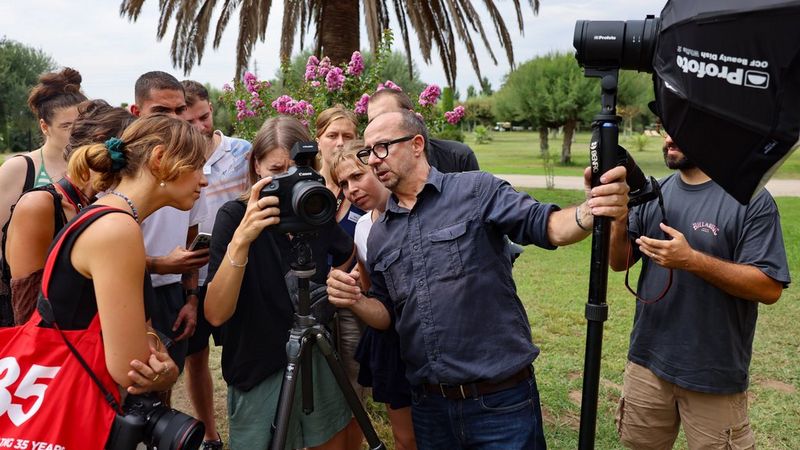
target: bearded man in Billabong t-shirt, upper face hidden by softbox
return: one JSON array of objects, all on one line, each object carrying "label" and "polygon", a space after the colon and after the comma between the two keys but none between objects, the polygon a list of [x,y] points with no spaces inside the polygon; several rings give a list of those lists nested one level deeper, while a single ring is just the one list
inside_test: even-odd
[{"label": "bearded man in Billabong t-shirt, upper face hidden by softbox", "polygon": [[617,412],[620,439],[672,448],[683,422],[689,448],[754,448],[747,386],[758,306],[778,301],[790,282],[778,209],[766,190],[737,202],[669,136],[663,151],[677,171],[660,182],[664,209],[640,205],[612,225],[610,265],[625,270],[642,259],[644,300]]}]

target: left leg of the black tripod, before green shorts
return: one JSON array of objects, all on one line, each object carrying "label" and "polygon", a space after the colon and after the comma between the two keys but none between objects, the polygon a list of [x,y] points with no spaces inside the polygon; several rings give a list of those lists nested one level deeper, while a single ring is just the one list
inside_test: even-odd
[{"label": "left leg of the black tripod, before green shorts", "polygon": [[281,383],[281,393],[278,397],[278,406],[275,411],[275,421],[272,423],[272,443],[270,448],[273,450],[283,450],[286,448],[286,436],[289,432],[289,419],[292,416],[292,403],[294,393],[297,388],[297,377],[300,375],[300,358],[303,347],[308,344],[308,339],[304,334],[292,330],[289,341],[286,343],[286,370],[283,372],[283,382]]}]

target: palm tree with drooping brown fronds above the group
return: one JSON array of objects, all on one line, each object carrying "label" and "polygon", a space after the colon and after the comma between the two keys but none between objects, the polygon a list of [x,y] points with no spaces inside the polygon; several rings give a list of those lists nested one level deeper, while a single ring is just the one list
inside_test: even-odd
[{"label": "palm tree with drooping brown fronds above the group", "polygon": [[[120,15],[136,21],[145,0],[122,0]],[[522,0],[512,0],[517,24],[522,33]],[[164,37],[170,21],[175,19],[175,32],[170,50],[172,63],[188,73],[195,64],[200,64],[206,40],[211,31],[211,17],[218,0],[159,0],[161,15],[158,20],[157,38]],[[240,78],[250,61],[250,54],[256,42],[266,37],[267,19],[272,8],[272,0],[224,0],[217,18],[214,32],[214,48],[219,47],[222,32],[231,17],[239,8],[239,37],[236,43],[236,78]],[[483,41],[492,62],[497,58],[489,45],[477,10],[472,0],[361,0],[366,16],[367,34],[372,51],[380,43],[382,31],[389,28],[389,9],[393,6],[399,23],[409,67],[411,66],[411,47],[409,44],[409,24],[419,39],[420,50],[425,63],[431,63],[431,50],[436,47],[450,86],[456,79],[456,37],[464,43],[472,67],[482,79],[478,58],[475,55],[476,33]],[[505,49],[511,67],[514,67],[514,51],[511,37],[500,10],[492,0],[483,0],[494,25],[500,46]],[[539,11],[539,0],[528,0],[534,14]],[[283,25],[281,32],[281,60],[288,60],[294,45],[294,36],[300,27],[300,46],[303,47],[305,34],[312,25],[316,26],[314,53],[324,54],[334,64],[347,61],[353,51],[359,48],[359,0],[284,0]]]}]

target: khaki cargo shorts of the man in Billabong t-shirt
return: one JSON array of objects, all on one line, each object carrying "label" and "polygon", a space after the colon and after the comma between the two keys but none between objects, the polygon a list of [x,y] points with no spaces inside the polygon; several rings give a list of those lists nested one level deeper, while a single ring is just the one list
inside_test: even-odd
[{"label": "khaki cargo shorts of the man in Billabong t-shirt", "polygon": [[689,391],[628,362],[616,415],[622,443],[635,449],[671,449],[683,423],[690,449],[753,449],[747,393]]}]

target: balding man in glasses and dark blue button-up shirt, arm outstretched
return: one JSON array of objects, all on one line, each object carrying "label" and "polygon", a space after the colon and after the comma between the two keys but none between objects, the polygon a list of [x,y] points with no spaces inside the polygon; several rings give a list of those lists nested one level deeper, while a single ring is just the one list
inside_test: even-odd
[{"label": "balding man in glasses and dark blue button-up shirt, arm outstretched", "polygon": [[428,165],[426,139],[410,111],[367,126],[359,158],[392,195],[367,241],[368,295],[357,272],[333,271],[329,298],[375,328],[394,322],[419,448],[545,448],[531,368],[539,350],[503,235],[554,249],[588,236],[593,214],[624,217],[625,169],[562,210],[485,172],[442,174]]}]

